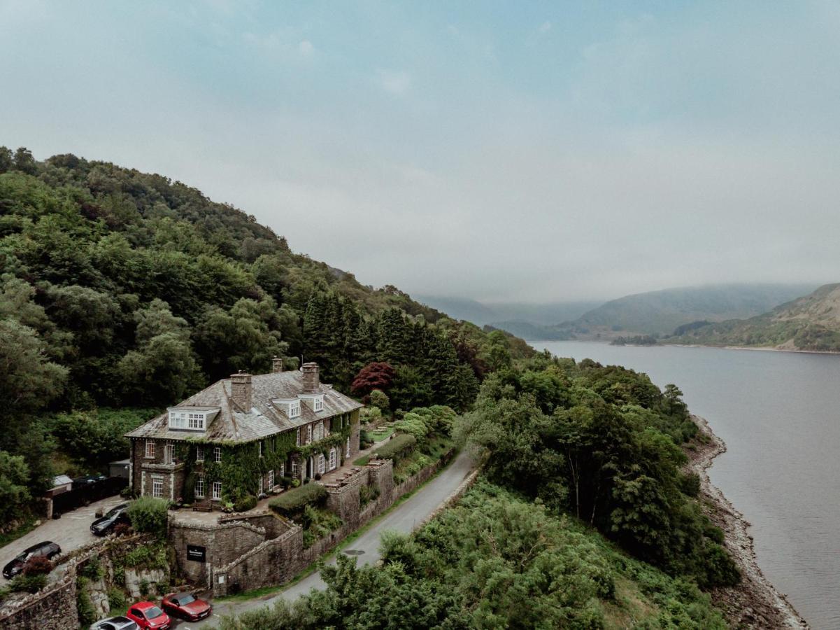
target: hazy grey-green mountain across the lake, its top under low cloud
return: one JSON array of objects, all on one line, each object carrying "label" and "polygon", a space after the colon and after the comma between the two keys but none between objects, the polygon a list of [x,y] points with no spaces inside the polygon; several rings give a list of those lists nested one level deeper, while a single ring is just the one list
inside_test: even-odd
[{"label": "hazy grey-green mountain across the lake, its top under low cloud", "polygon": [[651,291],[613,299],[552,330],[573,338],[608,339],[627,333],[664,336],[698,320],[760,315],[814,288],[813,284],[726,284]]}]

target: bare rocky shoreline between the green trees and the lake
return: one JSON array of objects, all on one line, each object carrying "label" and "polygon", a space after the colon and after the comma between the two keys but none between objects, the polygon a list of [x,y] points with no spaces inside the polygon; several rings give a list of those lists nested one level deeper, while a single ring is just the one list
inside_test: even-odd
[{"label": "bare rocky shoreline between the green trees and the lake", "polygon": [[701,480],[701,500],[711,521],[726,534],[726,547],[741,569],[742,580],[731,588],[711,591],[711,598],[727,617],[732,627],[745,628],[808,628],[808,624],[787,598],[764,576],[755,558],[753,537],[743,514],[732,506],[717,486],[711,484],[708,469],[727,445],[711,431],[709,423],[692,416],[708,440],[696,442],[696,450],[687,452],[688,468]]}]

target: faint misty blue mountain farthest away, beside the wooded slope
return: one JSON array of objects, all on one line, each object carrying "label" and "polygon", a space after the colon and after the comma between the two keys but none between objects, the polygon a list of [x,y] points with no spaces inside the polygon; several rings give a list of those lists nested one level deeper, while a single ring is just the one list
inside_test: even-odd
[{"label": "faint misty blue mountain farthest away, beside the wooded slope", "polygon": [[[482,304],[475,299],[447,298],[436,295],[421,295],[417,299],[433,309],[440,310],[457,320],[467,320],[479,326],[491,325],[503,331],[518,333],[513,329],[542,331],[543,326],[550,326],[559,321],[574,320],[586,311],[603,304],[601,300],[583,302],[552,302],[529,304],[527,302],[496,302]],[[546,339],[544,332],[535,332],[539,336],[531,339]]]}]

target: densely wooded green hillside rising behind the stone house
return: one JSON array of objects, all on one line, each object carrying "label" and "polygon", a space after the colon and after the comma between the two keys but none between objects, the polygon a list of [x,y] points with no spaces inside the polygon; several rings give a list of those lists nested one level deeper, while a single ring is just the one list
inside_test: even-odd
[{"label": "densely wooded green hillside rising behind the stone house", "polygon": [[123,431],[274,355],[317,361],[344,391],[388,362],[394,410],[464,410],[486,373],[530,352],[296,254],[183,183],[0,147],[0,516],[55,465],[124,456]]}]

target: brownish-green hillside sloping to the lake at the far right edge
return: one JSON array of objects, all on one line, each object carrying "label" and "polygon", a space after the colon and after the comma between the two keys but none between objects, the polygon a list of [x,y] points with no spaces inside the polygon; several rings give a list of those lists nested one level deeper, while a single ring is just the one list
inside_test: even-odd
[{"label": "brownish-green hillside sloping to the lake at the far right edge", "polygon": [[747,320],[697,322],[684,326],[672,343],[776,347],[781,350],[840,351],[840,283]]}]

